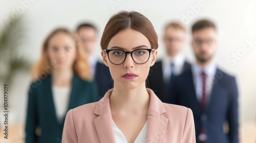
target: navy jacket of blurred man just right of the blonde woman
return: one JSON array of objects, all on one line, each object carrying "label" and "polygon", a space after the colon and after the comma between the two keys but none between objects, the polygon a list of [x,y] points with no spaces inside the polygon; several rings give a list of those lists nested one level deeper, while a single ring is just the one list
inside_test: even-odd
[{"label": "navy jacket of blurred man just right of the blonde woman", "polygon": [[94,78],[98,86],[99,98],[101,99],[106,91],[113,88],[113,80],[109,67],[103,63],[97,62]]}]

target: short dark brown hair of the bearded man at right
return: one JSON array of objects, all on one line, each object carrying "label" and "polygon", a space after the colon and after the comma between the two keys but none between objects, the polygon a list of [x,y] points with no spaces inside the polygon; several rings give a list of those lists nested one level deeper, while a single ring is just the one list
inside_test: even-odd
[{"label": "short dark brown hair of the bearded man at right", "polygon": [[201,30],[205,28],[214,28],[216,30],[216,26],[214,22],[207,19],[202,19],[194,23],[194,25],[192,26],[192,33],[194,33],[197,30]]}]

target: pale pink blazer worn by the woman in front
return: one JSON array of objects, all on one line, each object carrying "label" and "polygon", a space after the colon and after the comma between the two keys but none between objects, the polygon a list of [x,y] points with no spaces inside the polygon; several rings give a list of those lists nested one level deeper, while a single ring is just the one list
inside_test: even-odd
[{"label": "pale pink blazer worn by the woman in front", "polygon": [[[113,89],[98,102],[68,111],[62,134],[62,143],[115,142],[109,97]],[[150,105],[147,113],[146,142],[196,142],[194,118],[191,109],[162,103],[149,88]]]}]

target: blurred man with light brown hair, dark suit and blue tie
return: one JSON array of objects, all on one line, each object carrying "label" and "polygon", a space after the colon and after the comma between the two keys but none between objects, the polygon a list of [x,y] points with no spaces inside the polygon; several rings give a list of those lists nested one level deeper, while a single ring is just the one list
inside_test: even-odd
[{"label": "blurred man with light brown hair, dark suit and blue tie", "polygon": [[186,42],[186,28],[180,22],[170,22],[166,25],[163,42],[166,57],[151,67],[148,75],[149,87],[157,94],[162,102],[167,102],[170,96],[169,88],[176,76],[190,67],[185,56],[181,53]]}]

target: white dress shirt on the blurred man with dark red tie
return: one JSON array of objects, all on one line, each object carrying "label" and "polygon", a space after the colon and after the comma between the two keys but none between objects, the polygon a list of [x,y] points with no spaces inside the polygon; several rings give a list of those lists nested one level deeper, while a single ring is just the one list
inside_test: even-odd
[{"label": "white dress shirt on the blurred man with dark red tie", "polygon": [[193,80],[195,85],[195,91],[197,94],[198,101],[201,101],[202,91],[203,91],[203,79],[202,79],[202,71],[207,75],[206,78],[206,99],[209,99],[212,85],[214,84],[215,73],[217,70],[217,65],[215,63],[211,63],[202,69],[199,65],[193,64],[192,67]]}]

